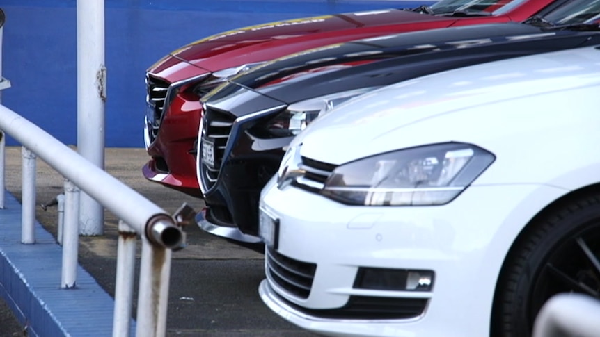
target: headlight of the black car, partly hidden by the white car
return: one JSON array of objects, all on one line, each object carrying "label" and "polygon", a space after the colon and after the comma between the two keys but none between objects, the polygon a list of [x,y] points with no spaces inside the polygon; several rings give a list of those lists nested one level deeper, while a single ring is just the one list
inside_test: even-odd
[{"label": "headlight of the black car, partly hidden by the white car", "polygon": [[267,123],[269,133],[277,138],[297,135],[306,126],[329,110],[343,102],[357,97],[379,87],[361,88],[345,92],[336,92],[322,97],[299,101],[287,106],[283,113],[279,113]]}]

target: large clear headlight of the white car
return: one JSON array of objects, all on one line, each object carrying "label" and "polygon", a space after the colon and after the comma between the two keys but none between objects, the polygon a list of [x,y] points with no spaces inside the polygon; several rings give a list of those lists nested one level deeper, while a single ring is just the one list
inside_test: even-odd
[{"label": "large clear headlight of the white car", "polygon": [[321,193],[350,205],[447,204],[495,158],[480,147],[456,142],[402,149],[336,167]]}]

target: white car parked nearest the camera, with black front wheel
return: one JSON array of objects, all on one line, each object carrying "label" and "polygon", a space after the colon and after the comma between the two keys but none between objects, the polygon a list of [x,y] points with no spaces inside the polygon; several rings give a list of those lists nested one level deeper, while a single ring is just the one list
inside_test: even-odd
[{"label": "white car parked nearest the camera, with black front wheel", "polygon": [[530,336],[600,293],[600,50],[391,85],[319,117],[262,190],[263,302],[332,336]]}]

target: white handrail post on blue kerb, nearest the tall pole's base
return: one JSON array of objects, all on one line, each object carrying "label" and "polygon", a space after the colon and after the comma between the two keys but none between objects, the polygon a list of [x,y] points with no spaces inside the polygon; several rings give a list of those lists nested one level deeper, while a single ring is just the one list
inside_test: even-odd
[{"label": "white handrail post on blue kerb, nearest the tall pole's base", "polygon": [[79,188],[65,179],[65,225],[61,288],[75,288],[79,254]]}]

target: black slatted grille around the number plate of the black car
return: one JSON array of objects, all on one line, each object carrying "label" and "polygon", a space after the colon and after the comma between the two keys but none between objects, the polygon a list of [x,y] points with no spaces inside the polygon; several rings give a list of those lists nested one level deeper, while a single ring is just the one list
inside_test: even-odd
[{"label": "black slatted grille around the number plate of the black car", "polygon": [[205,107],[202,137],[207,138],[214,144],[214,167],[205,165],[200,166],[200,171],[203,174],[205,188],[210,189],[214,186],[217,177],[219,176],[219,167],[225,156],[225,148],[231,133],[231,128],[235,122],[235,117],[224,111],[215,110],[208,106]]}]

